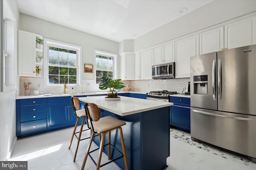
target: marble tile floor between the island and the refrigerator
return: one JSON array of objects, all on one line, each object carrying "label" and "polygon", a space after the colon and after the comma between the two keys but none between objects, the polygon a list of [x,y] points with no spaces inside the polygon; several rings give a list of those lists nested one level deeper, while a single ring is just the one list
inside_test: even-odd
[{"label": "marble tile floor between the island and the refrigerator", "polygon": [[256,163],[191,140],[190,133],[170,131],[170,156],[167,170],[256,170]]}]

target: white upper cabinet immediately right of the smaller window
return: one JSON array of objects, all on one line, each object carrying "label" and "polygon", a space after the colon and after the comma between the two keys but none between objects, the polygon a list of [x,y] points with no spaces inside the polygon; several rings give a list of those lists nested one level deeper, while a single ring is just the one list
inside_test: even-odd
[{"label": "white upper cabinet immediately right of the smaller window", "polygon": [[135,72],[135,55],[125,54],[121,56],[121,79],[122,80],[134,80]]}]

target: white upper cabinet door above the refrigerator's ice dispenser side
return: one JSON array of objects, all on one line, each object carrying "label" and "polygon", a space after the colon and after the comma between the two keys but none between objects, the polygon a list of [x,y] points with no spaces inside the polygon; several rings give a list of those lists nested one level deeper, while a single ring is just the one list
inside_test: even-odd
[{"label": "white upper cabinet door above the refrigerator's ice dispenser side", "polygon": [[224,50],[224,26],[199,34],[199,54]]}]

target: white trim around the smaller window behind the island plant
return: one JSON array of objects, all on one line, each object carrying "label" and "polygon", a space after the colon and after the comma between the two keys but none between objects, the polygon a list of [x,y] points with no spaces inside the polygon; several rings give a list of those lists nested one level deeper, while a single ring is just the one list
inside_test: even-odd
[{"label": "white trim around the smaller window behind the island plant", "polygon": [[99,84],[96,84],[96,55],[97,54],[102,54],[106,57],[113,57],[114,58],[114,66],[113,66],[113,79],[117,78],[117,59],[118,59],[118,55],[115,53],[110,53],[110,52],[106,52],[106,51],[101,51],[98,49],[94,49],[94,85],[95,87],[99,87]]}]

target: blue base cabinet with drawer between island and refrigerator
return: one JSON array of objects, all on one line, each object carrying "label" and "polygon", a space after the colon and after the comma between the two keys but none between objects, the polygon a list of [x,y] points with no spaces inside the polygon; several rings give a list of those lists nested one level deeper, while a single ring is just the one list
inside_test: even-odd
[{"label": "blue base cabinet with drawer between island and refrigerator", "polygon": [[170,109],[170,125],[190,132],[190,98],[170,96],[169,101],[174,103]]}]

